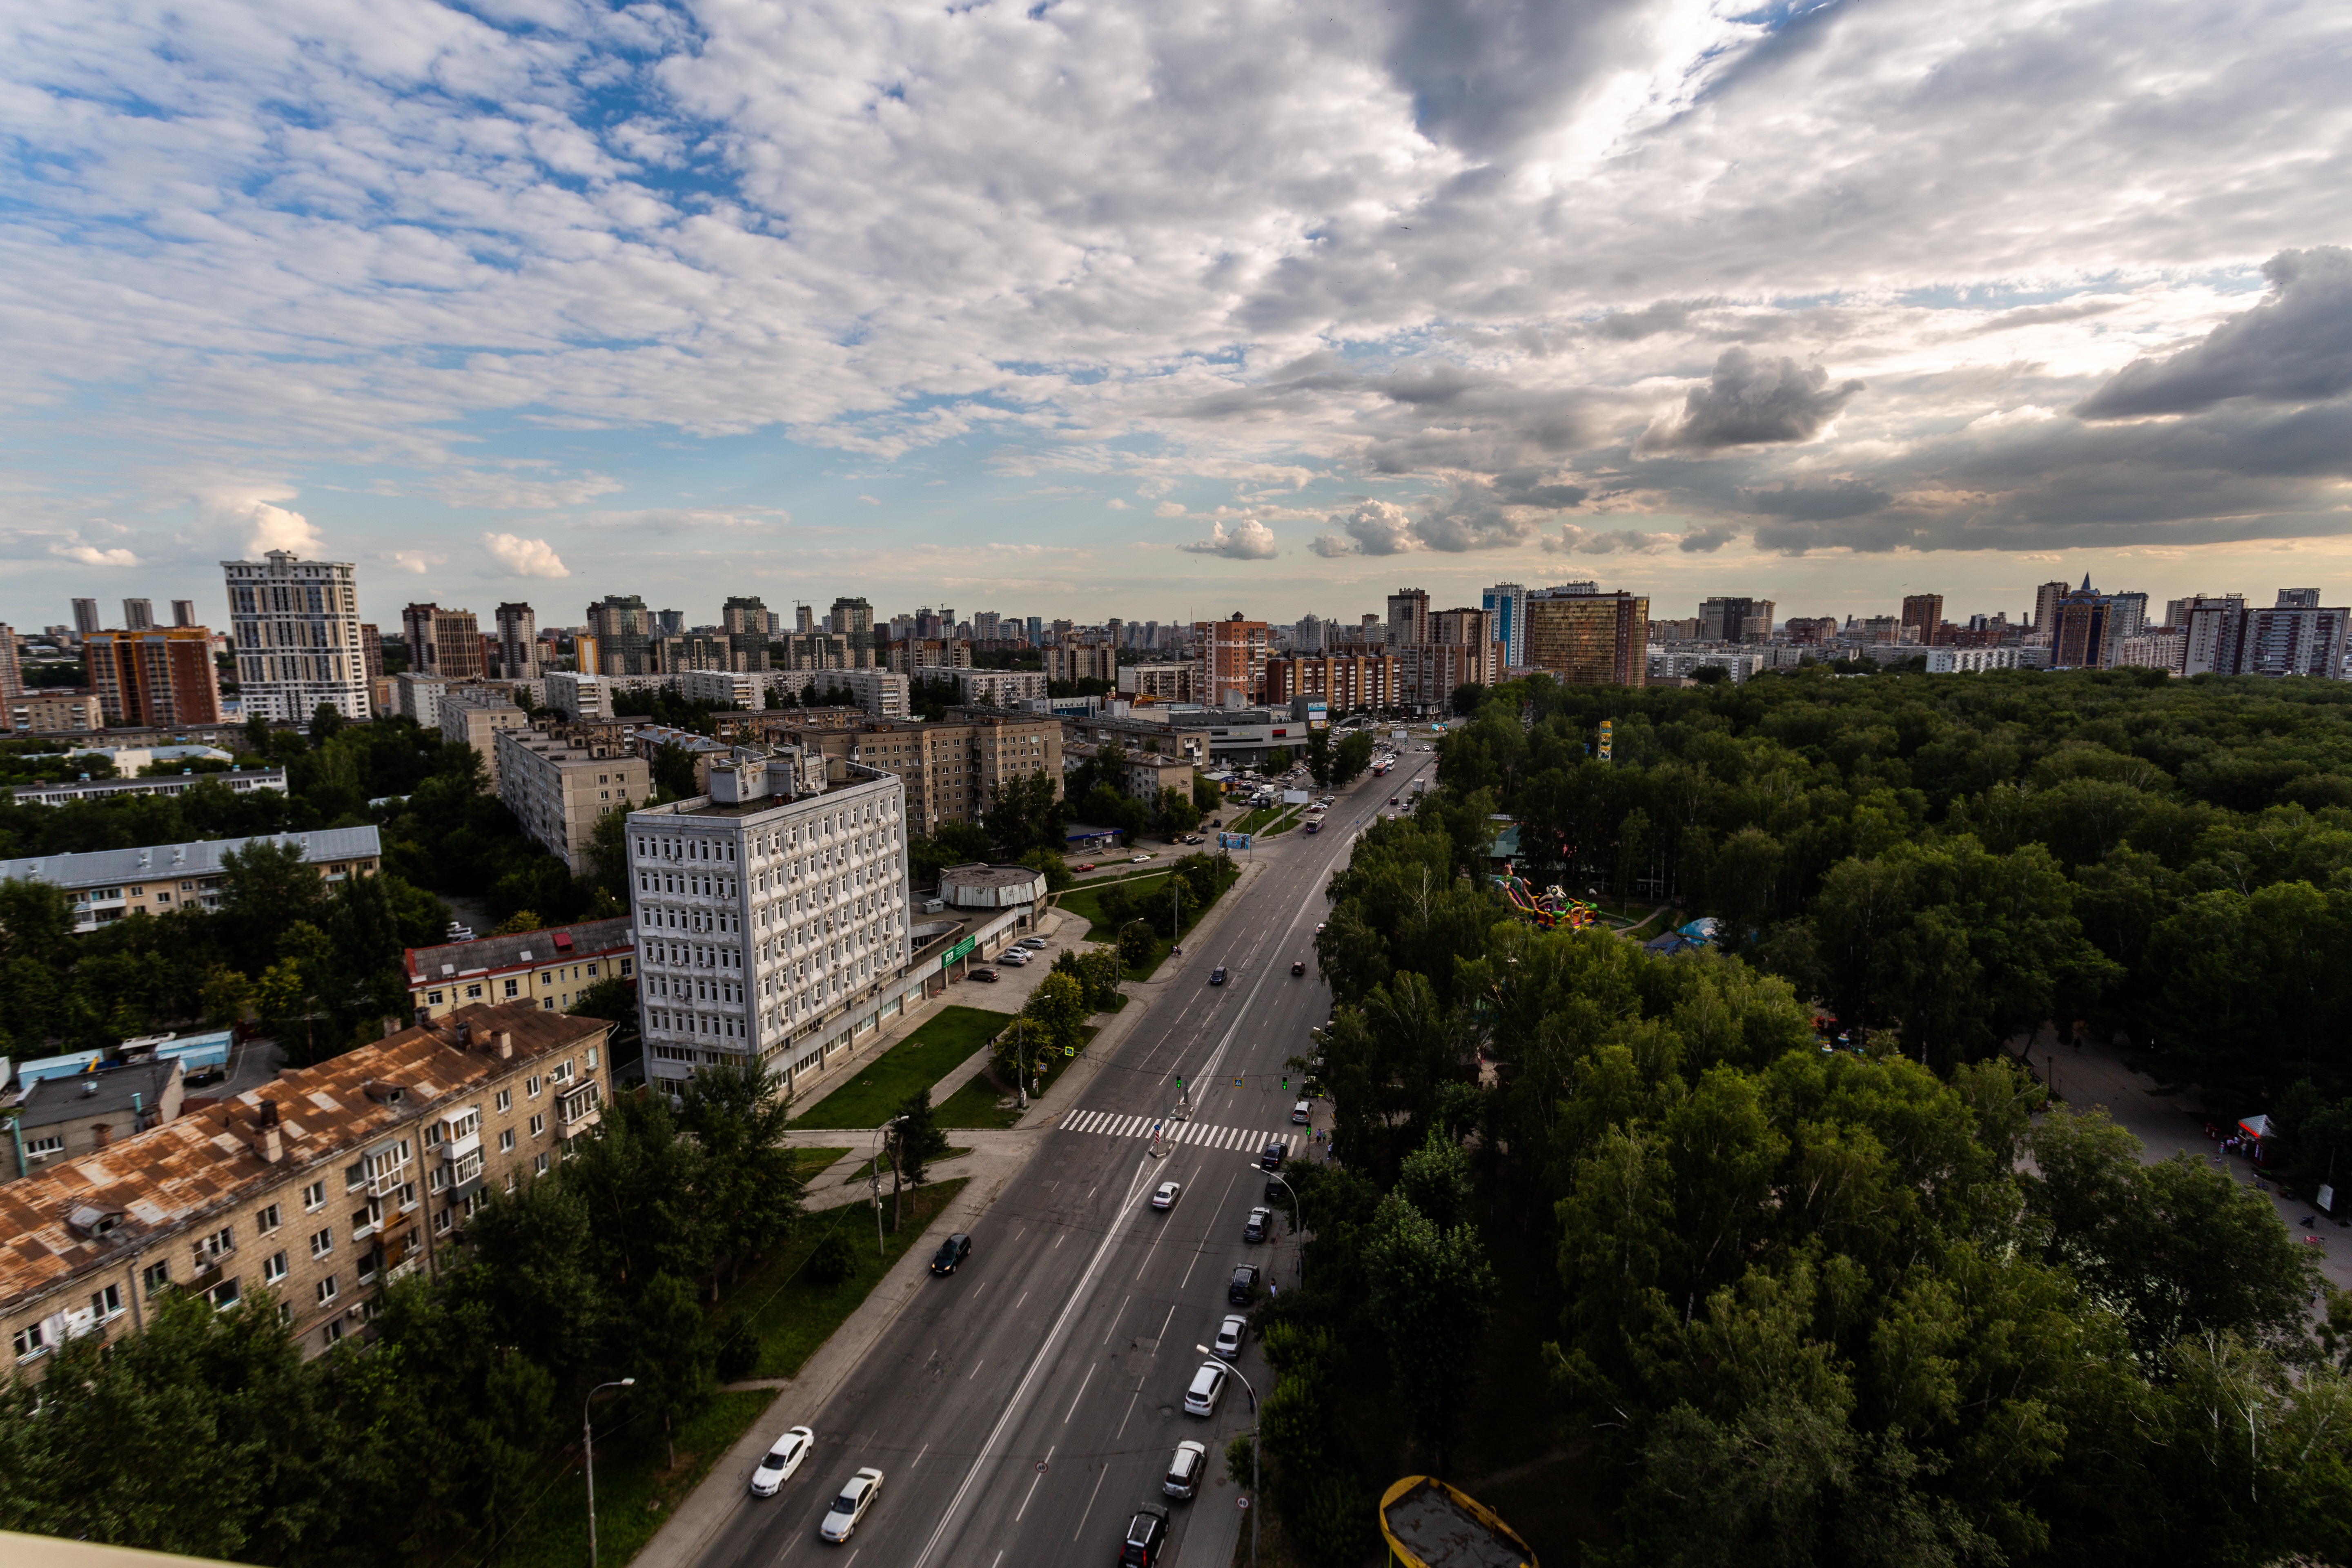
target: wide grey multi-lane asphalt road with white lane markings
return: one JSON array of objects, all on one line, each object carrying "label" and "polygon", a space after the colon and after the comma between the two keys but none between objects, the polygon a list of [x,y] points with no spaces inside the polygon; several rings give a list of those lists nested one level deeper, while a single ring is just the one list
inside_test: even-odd
[{"label": "wide grey multi-lane asphalt road with white lane markings", "polygon": [[[776,1497],[734,1512],[701,1568],[1112,1563],[1138,1507],[1169,1514],[1157,1561],[1232,1559],[1247,1476],[1225,1479],[1223,1446],[1249,1429],[1249,1396],[1232,1380],[1214,1418],[1185,1415],[1207,1359],[1195,1345],[1225,1316],[1235,1265],[1298,1279],[1287,1225],[1270,1244],[1247,1244],[1242,1225],[1263,1201],[1263,1143],[1305,1131],[1291,1126],[1298,1081],[1284,1060],[1305,1053],[1331,1006],[1315,973],[1324,884],[1355,830],[1432,764],[1406,750],[1385,778],[1341,795],[1319,835],[1261,842],[1261,867],[1214,936],[1162,969],[1150,1011],[1073,1103],[1049,1107],[1056,1131],[971,1225],[962,1272],[924,1281],[823,1408],[776,1410],[779,1432],[811,1425],[816,1448]],[[1294,959],[1308,961],[1303,978]],[[1221,987],[1209,985],[1216,964],[1230,971]],[[1190,1119],[1171,1124],[1183,1131],[1155,1159],[1150,1121],[1174,1107],[1178,1077],[1192,1086]],[[1183,1197],[1155,1213],[1164,1180]],[[1240,1373],[1268,1387],[1256,1342]],[[1160,1479],[1188,1436],[1209,1443],[1211,1479],[1176,1502]],[[880,1500],[847,1544],[821,1542],[826,1505],[863,1465],[887,1476]]]}]

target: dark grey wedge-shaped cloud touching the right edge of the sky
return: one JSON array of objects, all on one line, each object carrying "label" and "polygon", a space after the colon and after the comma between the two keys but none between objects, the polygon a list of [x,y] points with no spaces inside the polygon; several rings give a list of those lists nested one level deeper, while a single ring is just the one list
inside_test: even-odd
[{"label": "dark grey wedge-shaped cloud touching the right edge of the sky", "polygon": [[2352,252],[2319,244],[2263,266],[2270,299],[2161,360],[2133,360],[2074,411],[2194,414],[2227,397],[2321,402],[2352,390]]}]

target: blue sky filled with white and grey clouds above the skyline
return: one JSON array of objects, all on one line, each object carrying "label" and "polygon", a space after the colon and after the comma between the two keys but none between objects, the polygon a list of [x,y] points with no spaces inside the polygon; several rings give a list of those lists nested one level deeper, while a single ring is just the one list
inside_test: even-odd
[{"label": "blue sky filled with white and grey clouds above the skyline", "polygon": [[0,0],[0,616],[219,618],[263,548],[543,625],[2345,602],[2347,45],[2293,0]]}]

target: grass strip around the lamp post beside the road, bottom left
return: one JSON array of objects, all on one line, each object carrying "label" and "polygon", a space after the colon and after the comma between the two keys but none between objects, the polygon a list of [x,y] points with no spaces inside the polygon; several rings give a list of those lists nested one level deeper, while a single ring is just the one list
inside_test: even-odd
[{"label": "grass strip around the lamp post beside the road, bottom left", "polygon": [[[677,1469],[661,1439],[661,1418],[626,1415],[597,1401],[595,1432],[595,1547],[597,1559],[626,1563],[684,1502],[710,1467],[760,1420],[769,1389],[715,1394],[677,1429]],[[607,1425],[609,1422],[609,1425]],[[499,1568],[576,1568],[588,1561],[588,1479],[579,1458],[529,1507],[506,1521]]]}]

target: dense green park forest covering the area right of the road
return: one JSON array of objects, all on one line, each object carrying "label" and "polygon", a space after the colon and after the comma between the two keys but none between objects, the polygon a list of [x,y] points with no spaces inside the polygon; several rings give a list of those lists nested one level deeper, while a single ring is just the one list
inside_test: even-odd
[{"label": "dense green park forest covering the area right of the road", "polygon": [[[1369,1500],[1437,1469],[1592,1563],[2345,1561],[2317,1248],[2206,1159],[2037,1117],[2002,1046],[2122,1032],[2324,1164],[2347,715],[2124,672],[1486,693],[1317,940],[1341,1164],[1265,1312],[1294,1547],[1369,1561]],[[1538,886],[1679,898],[1724,950],[1515,919],[1498,813]]]}]

